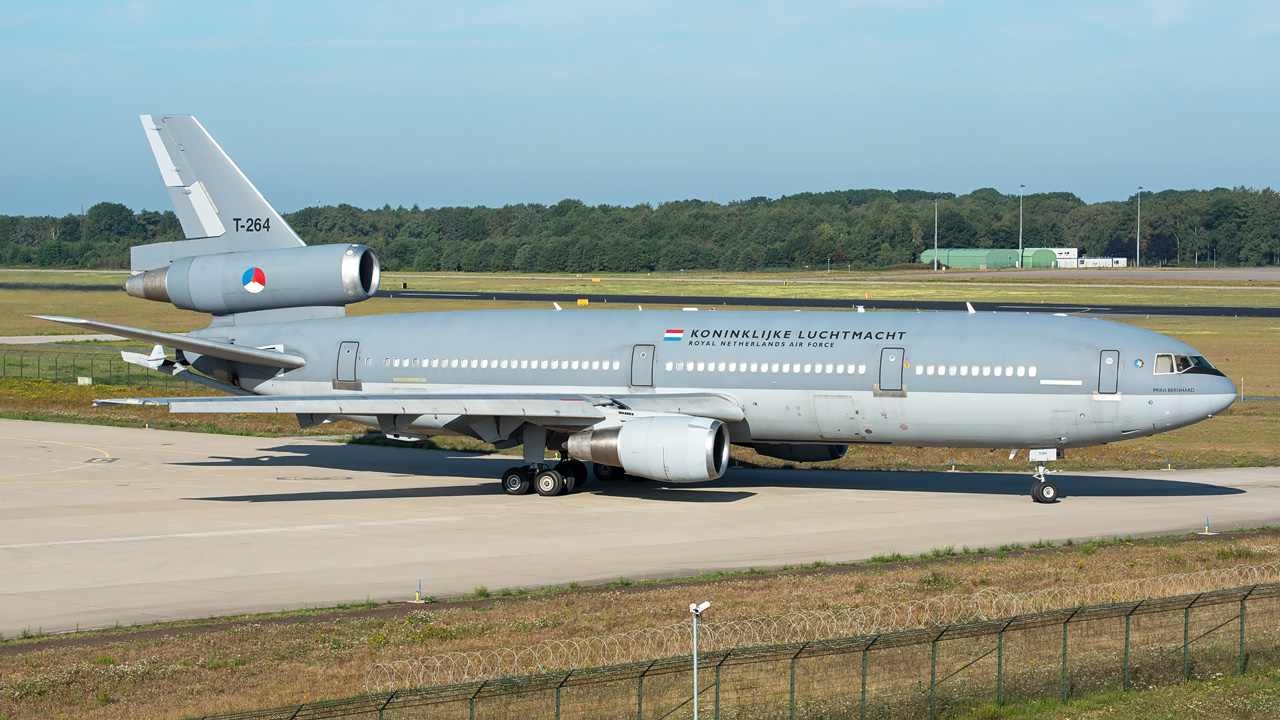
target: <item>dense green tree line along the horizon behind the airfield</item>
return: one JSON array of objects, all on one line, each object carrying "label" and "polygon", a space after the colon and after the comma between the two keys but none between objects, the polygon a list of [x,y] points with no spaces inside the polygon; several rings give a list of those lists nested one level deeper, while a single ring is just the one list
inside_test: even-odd
[{"label": "dense green tree line along the horizon behind the airfield", "polygon": [[[1025,247],[1078,247],[1133,258],[1138,196],[1085,204],[1070,192],[1027,195]],[[308,245],[371,246],[387,270],[676,272],[869,269],[916,263],[933,247],[1018,247],[1016,195],[901,190],[804,192],[719,204],[628,208],[303,208],[285,219]],[[1280,196],[1270,188],[1166,190],[1142,196],[1143,265],[1275,265]],[[0,264],[128,268],[133,245],[182,240],[172,211],[100,202],[82,214],[0,215]]]}]

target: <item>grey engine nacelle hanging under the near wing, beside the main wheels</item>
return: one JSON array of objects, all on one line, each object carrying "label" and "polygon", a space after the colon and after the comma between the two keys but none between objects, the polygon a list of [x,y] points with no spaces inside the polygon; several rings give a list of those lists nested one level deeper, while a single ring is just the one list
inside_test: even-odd
[{"label": "grey engine nacelle hanging under the near wing, beside the main wheels", "polygon": [[700,483],[728,469],[728,427],[689,415],[632,418],[617,428],[572,434],[567,450],[641,478]]}]

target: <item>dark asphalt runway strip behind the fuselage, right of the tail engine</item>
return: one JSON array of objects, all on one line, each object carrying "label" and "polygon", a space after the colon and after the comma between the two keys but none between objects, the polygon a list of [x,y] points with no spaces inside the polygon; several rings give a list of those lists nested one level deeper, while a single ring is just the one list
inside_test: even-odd
[{"label": "dark asphalt runway strip behind the fuselage, right of the tail engine", "polygon": [[[823,307],[829,310],[928,310],[965,313],[965,302],[943,300],[858,300],[829,297],[722,297],[689,295],[594,295],[571,292],[435,292],[422,290],[393,290],[384,297],[404,300],[502,300],[507,302],[590,302],[625,305],[684,305],[703,307]],[[1280,318],[1280,307],[1236,305],[1065,305],[1055,302],[973,302],[978,313],[1065,313],[1069,315],[1098,316],[1188,316],[1188,318]]]}]

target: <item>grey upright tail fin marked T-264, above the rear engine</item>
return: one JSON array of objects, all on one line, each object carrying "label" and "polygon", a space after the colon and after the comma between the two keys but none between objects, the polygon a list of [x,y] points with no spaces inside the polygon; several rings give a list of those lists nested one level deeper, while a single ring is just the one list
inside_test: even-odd
[{"label": "grey upright tail fin marked T-264, above the rear engine", "polygon": [[133,272],[179,258],[305,245],[192,115],[141,115],[186,241],[140,245]]}]

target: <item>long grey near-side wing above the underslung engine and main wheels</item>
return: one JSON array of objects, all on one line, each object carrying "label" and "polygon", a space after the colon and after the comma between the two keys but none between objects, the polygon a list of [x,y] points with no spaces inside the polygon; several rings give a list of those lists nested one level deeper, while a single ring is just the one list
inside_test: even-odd
[{"label": "long grey near-side wing above the underslung engine and main wheels", "polygon": [[443,393],[335,393],[234,397],[138,397],[97,400],[95,406],[168,405],[170,413],[292,413],[297,415],[466,415],[603,420],[602,406],[649,413],[678,413],[723,421],[744,418],[728,397],[691,395],[443,395]]}]

